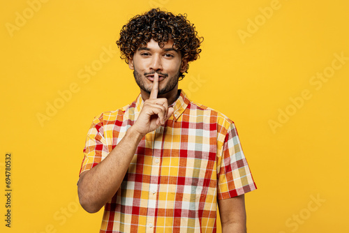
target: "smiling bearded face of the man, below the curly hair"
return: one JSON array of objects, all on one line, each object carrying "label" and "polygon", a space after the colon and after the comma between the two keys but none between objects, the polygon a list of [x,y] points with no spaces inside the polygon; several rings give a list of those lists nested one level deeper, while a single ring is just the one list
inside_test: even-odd
[{"label": "smiling bearded face of the man, below the curly hair", "polygon": [[174,50],[173,40],[159,47],[151,39],[147,47],[139,47],[130,59],[128,66],[133,71],[141,92],[149,94],[153,87],[154,73],[158,73],[158,95],[177,94],[179,73],[186,70],[186,61],[181,60],[179,51]]}]

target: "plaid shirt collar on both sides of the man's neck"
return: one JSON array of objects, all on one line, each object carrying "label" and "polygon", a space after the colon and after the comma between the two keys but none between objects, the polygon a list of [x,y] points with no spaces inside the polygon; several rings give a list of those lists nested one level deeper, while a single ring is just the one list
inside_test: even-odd
[{"label": "plaid shirt collar on both sides of the man's neck", "polygon": [[[188,99],[188,96],[186,96],[186,93],[184,93],[183,90],[179,89],[179,91],[181,91],[179,97],[171,105],[174,108],[174,112],[171,116],[174,118],[174,121],[177,121],[179,117],[181,117],[181,114],[183,114],[184,110],[186,110],[186,107],[188,107],[188,104],[191,102],[191,100]],[[144,101],[142,99],[142,95],[139,94],[137,99],[135,100],[136,117],[138,117],[138,114],[140,113],[140,110],[142,110],[143,105]]]}]

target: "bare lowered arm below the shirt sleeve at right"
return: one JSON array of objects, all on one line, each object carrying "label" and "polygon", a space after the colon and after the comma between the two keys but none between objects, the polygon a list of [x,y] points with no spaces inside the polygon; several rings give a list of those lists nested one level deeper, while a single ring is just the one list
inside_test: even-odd
[{"label": "bare lowered arm below the shirt sleeve at right", "polygon": [[245,197],[218,200],[219,214],[221,216],[223,233],[246,233]]}]

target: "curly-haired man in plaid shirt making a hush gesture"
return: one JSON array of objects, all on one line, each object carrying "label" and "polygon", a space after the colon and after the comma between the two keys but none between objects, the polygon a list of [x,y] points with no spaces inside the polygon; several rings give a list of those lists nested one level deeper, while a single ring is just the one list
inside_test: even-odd
[{"label": "curly-haired man in plaid shirt making a hush gesture", "polygon": [[202,38],[185,15],[137,15],[117,45],[140,87],[135,102],[94,119],[78,193],[101,232],[246,232],[255,183],[235,125],[178,89]]}]

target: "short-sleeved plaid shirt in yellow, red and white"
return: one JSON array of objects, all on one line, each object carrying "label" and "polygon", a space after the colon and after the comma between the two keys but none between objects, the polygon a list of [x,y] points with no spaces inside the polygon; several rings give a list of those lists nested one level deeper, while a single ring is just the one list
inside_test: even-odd
[{"label": "short-sleeved plaid shirt in yellow, red and white", "polygon": [[[81,172],[98,165],[124,137],[143,100],[94,119]],[[101,232],[216,232],[217,200],[254,190],[230,119],[181,91],[174,113],[143,137],[128,172],[105,204]]]}]

